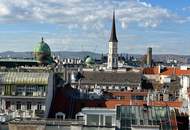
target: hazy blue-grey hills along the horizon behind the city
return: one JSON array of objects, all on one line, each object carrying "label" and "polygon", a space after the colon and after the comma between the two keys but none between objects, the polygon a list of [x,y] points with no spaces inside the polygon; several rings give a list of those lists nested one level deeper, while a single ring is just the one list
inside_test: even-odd
[{"label": "hazy blue-grey hills along the horizon behind the city", "polygon": [[[53,55],[59,56],[60,58],[81,58],[83,59],[85,56],[91,56],[96,59],[100,59],[100,53],[94,53],[89,51],[56,51],[52,52]],[[125,55],[125,54],[124,54]],[[133,56],[135,58],[141,59],[143,55],[140,54],[128,54],[128,56]],[[13,52],[13,51],[6,51],[0,53],[1,58],[32,58],[32,52]],[[153,59],[155,61],[167,61],[167,60],[177,60],[180,63],[190,63],[190,55],[175,55],[175,54],[160,54],[160,55],[153,55]]]}]

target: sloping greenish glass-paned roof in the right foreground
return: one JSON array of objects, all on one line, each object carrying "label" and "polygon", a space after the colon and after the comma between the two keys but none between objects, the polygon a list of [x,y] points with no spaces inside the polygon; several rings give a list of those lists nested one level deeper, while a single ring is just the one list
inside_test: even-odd
[{"label": "sloping greenish glass-paned roof in the right foreground", "polygon": [[118,106],[117,117],[121,130],[133,130],[133,126],[160,127],[160,130],[172,130],[169,107],[161,106]]}]

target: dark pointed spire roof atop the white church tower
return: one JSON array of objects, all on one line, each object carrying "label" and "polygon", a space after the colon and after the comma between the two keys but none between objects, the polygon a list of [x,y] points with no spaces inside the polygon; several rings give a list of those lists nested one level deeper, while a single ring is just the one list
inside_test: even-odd
[{"label": "dark pointed spire roof atop the white church tower", "polygon": [[115,11],[113,11],[113,22],[112,22],[112,30],[109,42],[118,42],[116,36],[116,27],[115,27]]}]

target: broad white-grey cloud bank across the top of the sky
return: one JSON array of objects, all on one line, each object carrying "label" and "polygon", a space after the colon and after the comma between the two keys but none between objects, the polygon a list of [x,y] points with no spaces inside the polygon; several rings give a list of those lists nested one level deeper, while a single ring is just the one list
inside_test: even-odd
[{"label": "broad white-grey cloud bank across the top of the sky", "polygon": [[123,28],[131,22],[157,27],[164,20],[180,20],[167,9],[140,0],[1,0],[0,16],[8,15],[1,21],[39,21],[70,25],[69,28],[74,25],[100,29],[111,19],[113,8]]}]

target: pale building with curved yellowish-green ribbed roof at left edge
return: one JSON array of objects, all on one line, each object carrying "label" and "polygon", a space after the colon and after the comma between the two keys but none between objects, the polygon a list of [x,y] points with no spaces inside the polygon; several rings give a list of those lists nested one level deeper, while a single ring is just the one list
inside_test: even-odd
[{"label": "pale building with curved yellowish-green ribbed roof at left edge", "polygon": [[0,72],[1,118],[43,117],[50,77],[48,72]]}]

